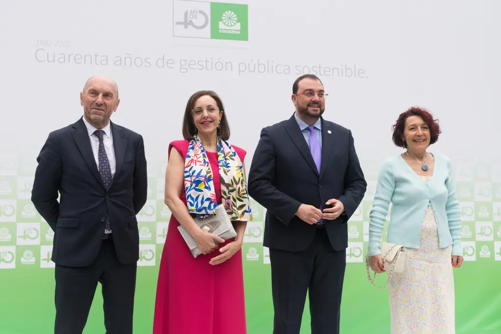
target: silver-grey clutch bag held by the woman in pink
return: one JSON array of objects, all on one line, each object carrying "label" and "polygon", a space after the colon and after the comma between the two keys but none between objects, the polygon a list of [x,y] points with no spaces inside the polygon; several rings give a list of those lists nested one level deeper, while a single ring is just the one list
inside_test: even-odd
[{"label": "silver-grey clutch bag held by the woman in pink", "polygon": [[[236,237],[236,231],[233,227],[233,224],[231,223],[231,220],[229,220],[228,214],[226,213],[223,204],[219,204],[217,206],[215,215],[207,218],[193,218],[193,220],[198,225],[198,227],[200,227],[205,232],[215,234],[218,237],[223,238],[224,240]],[[202,252],[196,246],[195,239],[193,239],[191,234],[189,234],[189,232],[181,225],[179,225],[177,229],[181,233],[184,241],[186,241],[186,244],[188,245],[188,248],[190,249],[193,257],[196,258],[198,255],[200,255]],[[217,244],[217,241],[215,242]]]}]

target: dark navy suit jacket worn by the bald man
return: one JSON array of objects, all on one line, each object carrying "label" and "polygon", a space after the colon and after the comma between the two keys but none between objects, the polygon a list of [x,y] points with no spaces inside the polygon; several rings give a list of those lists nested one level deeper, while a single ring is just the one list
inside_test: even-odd
[{"label": "dark navy suit jacket worn by the bald man", "polygon": [[91,264],[103,242],[106,214],[119,261],[139,259],[136,215],[146,203],[148,187],[143,138],[115,123],[111,129],[116,170],[108,189],[82,118],[51,132],[37,158],[31,199],[54,231],[56,264]]}]

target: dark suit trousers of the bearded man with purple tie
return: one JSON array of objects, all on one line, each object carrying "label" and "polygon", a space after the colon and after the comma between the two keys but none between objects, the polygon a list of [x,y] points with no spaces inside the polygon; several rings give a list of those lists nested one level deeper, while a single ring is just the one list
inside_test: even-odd
[{"label": "dark suit trousers of the bearded man with purple tie", "polygon": [[346,251],[334,251],[325,227],[304,251],[270,249],[273,334],[299,334],[306,293],[312,334],[339,334]]}]

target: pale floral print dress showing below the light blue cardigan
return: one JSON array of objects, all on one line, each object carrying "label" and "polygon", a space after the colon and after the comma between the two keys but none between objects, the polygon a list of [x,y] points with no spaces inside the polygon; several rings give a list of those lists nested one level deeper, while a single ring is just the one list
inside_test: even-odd
[{"label": "pale floral print dress showing below the light blue cardigan", "polygon": [[388,283],[391,334],[454,334],[452,246],[438,247],[431,205],[421,227],[419,249],[406,248],[404,272]]}]

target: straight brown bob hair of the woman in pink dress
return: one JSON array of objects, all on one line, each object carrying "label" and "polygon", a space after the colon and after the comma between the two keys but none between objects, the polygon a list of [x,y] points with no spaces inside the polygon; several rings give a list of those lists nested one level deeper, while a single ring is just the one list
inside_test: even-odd
[{"label": "straight brown bob hair of the woman in pink dress", "polygon": [[221,120],[219,122],[219,128],[217,129],[217,135],[219,139],[226,141],[229,139],[229,125],[226,119],[226,112],[222,105],[221,98],[213,91],[198,91],[190,96],[188,103],[186,103],[186,110],[184,111],[183,117],[183,138],[185,140],[191,141],[195,137],[195,123],[193,123],[193,109],[195,109],[196,100],[202,96],[208,95],[216,101],[217,108],[222,111]]}]

